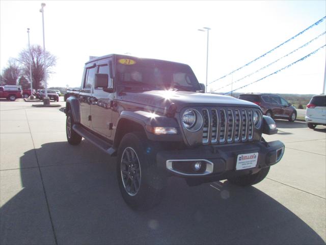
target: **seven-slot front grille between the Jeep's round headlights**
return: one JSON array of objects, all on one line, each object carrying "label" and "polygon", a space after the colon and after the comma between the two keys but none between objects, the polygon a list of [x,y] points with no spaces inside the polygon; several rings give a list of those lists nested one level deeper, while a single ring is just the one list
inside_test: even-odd
[{"label": "seven-slot front grille between the Jeep's round headlights", "polygon": [[254,136],[253,110],[214,108],[203,109],[202,142],[237,143],[250,141]]}]

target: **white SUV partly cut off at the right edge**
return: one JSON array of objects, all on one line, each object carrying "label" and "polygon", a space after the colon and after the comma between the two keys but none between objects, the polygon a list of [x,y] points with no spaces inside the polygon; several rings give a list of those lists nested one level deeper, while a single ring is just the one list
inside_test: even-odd
[{"label": "white SUV partly cut off at the right edge", "polygon": [[317,125],[326,126],[326,94],[314,95],[306,110],[308,127],[314,129]]}]

